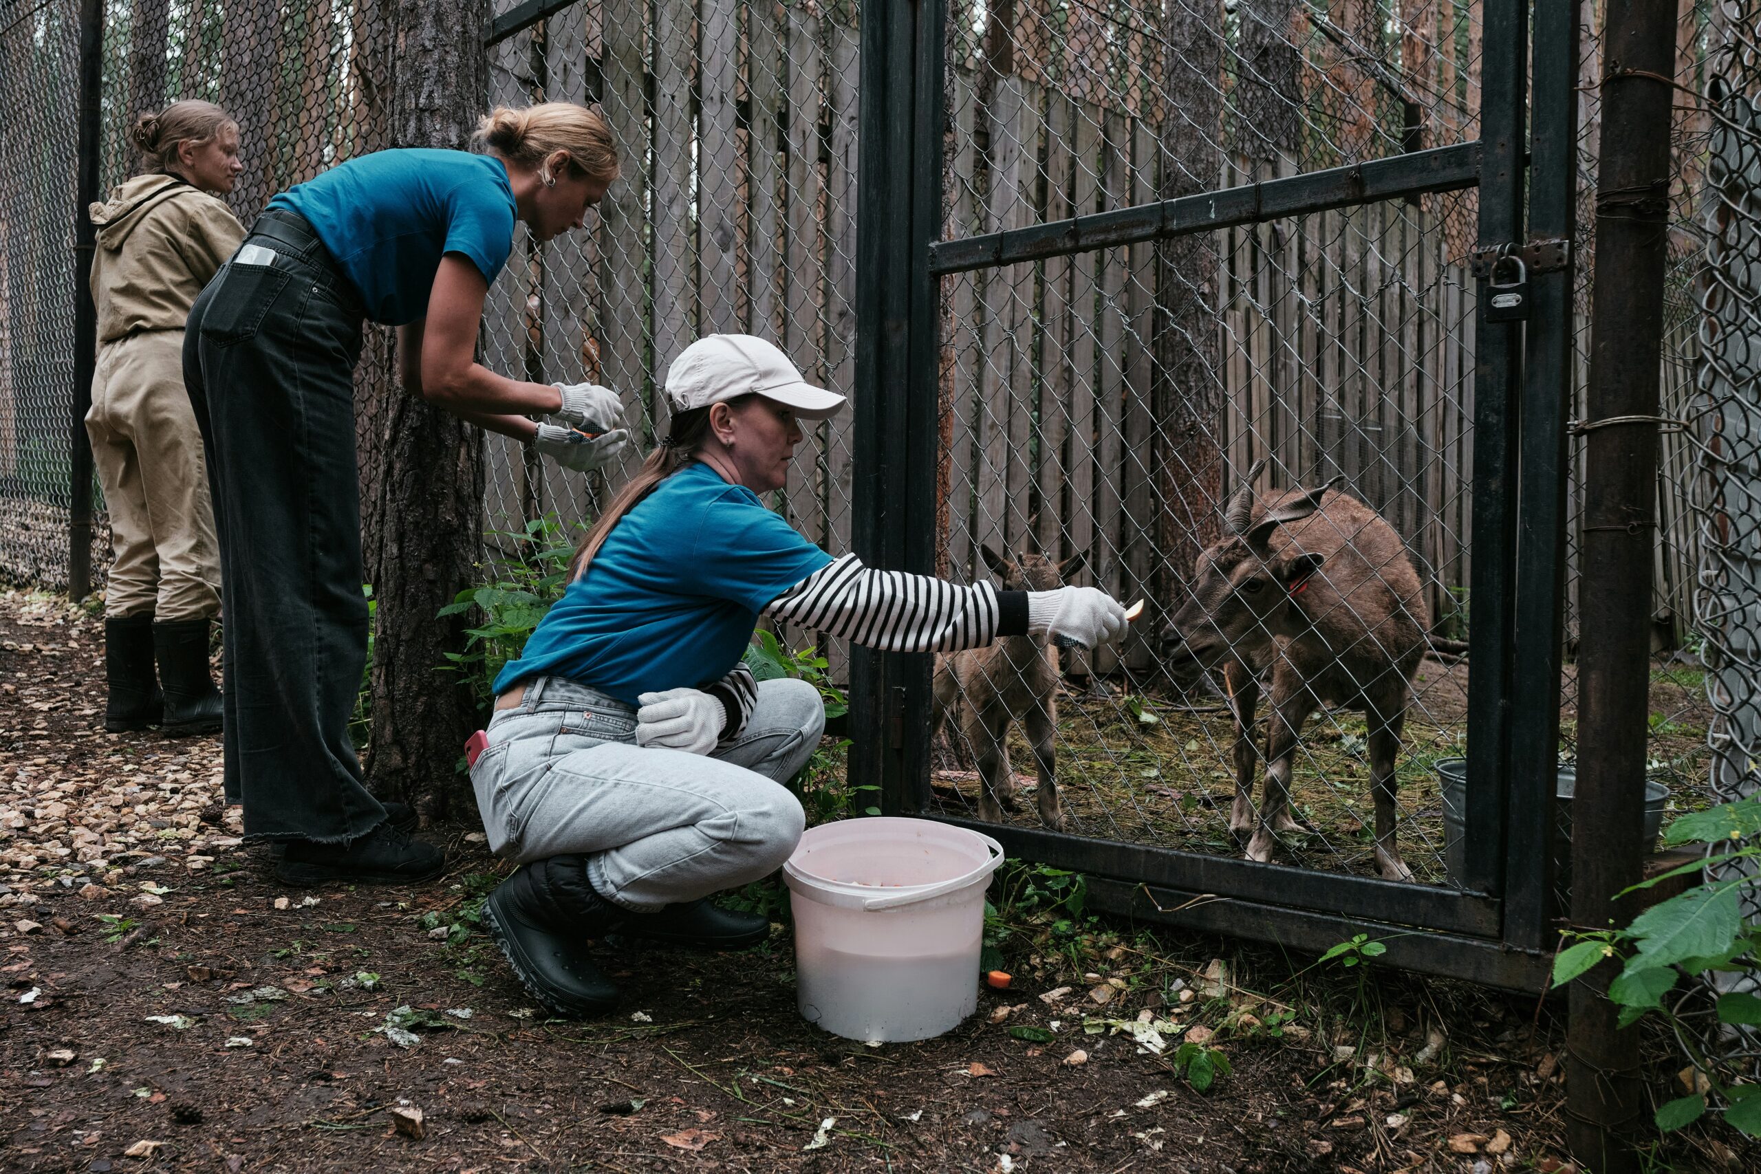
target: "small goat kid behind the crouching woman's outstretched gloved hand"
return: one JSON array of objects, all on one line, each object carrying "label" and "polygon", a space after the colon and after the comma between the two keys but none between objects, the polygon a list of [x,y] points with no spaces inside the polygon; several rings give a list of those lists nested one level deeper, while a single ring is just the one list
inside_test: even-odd
[{"label": "small goat kid behind the crouching woman's outstretched gloved hand", "polygon": [[[1053,563],[1044,554],[1004,558],[979,547],[984,565],[1002,577],[1004,590],[1055,591],[1079,554]],[[930,741],[949,716],[967,746],[977,755],[979,818],[1002,822],[1002,811],[1020,810],[1014,771],[1009,766],[1009,727],[1027,723],[1027,739],[1039,766],[1039,820],[1053,831],[1064,827],[1058,804],[1053,730],[1058,723],[1058,649],[1044,635],[1009,635],[986,648],[946,653],[935,658],[935,715]]]}]

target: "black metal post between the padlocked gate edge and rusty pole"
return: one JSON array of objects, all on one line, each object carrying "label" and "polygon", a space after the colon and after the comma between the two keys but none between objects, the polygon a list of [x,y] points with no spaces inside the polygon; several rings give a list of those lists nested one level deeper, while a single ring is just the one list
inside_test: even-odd
[{"label": "black metal post between the padlocked gate edge and rusty pole", "polygon": [[[1578,206],[1578,2],[1536,5],[1529,239],[1571,241]],[[1544,950],[1553,917],[1558,678],[1566,598],[1566,415],[1571,405],[1573,268],[1530,271],[1511,667],[1511,806],[1504,940]]]}]

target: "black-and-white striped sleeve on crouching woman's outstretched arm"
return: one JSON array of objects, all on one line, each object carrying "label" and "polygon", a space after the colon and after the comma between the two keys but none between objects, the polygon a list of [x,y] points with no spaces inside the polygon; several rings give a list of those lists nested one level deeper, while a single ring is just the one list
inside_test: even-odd
[{"label": "black-and-white striped sleeve on crouching woman's outstretched arm", "polygon": [[778,595],[764,614],[889,653],[947,653],[1027,632],[1027,591],[873,570],[845,554]]}]

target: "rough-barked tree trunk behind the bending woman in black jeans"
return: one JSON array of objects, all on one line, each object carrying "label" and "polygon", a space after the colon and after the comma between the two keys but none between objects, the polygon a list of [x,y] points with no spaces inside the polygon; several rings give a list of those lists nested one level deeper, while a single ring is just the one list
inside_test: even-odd
[{"label": "rough-barked tree trunk behind the bending woman in black jeans", "polygon": [[[391,146],[463,148],[488,93],[488,56],[475,32],[486,0],[393,0]],[[483,549],[483,433],[396,380],[391,331],[375,329],[363,356],[363,554],[373,584],[373,790],[444,818],[470,787],[454,769],[479,723],[470,693],[438,674],[465,644],[465,618],[438,611],[477,577]],[[467,804],[468,810],[468,804]]]}]

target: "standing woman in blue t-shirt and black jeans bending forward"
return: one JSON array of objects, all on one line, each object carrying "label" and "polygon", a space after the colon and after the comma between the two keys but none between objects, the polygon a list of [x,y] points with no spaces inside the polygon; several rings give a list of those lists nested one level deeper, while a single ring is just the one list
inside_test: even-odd
[{"label": "standing woman in blue t-shirt and black jeans bending forward", "polygon": [[[593,468],[627,440],[613,429],[615,393],[528,384],[474,361],[514,222],[539,241],[578,229],[616,180],[606,123],[567,102],[504,107],[475,144],[379,151],[282,192],[190,310],[183,380],[225,600],[225,794],[245,804],[250,838],[285,845],[287,884],[417,880],[444,864],[407,834],[407,806],[361,785],[349,741],[366,662],[361,324],[398,327],[405,393],[569,468]],[[539,414],[560,424],[534,424]]]}]

